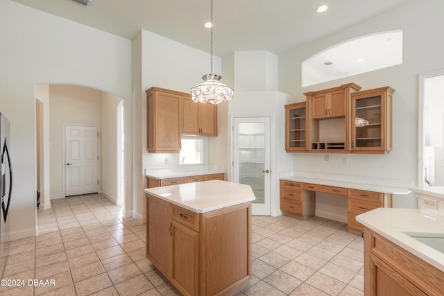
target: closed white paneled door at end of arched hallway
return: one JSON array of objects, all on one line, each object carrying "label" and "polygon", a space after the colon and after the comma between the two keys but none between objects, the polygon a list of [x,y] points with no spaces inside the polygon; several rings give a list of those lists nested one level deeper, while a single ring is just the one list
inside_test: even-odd
[{"label": "closed white paneled door at end of arched hallway", "polygon": [[99,192],[99,128],[65,125],[65,195]]}]

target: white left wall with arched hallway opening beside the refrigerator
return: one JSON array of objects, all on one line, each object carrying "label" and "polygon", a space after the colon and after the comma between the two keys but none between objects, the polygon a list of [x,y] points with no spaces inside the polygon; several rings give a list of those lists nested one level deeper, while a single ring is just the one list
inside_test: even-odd
[{"label": "white left wall with arched hallway opening beside the refrigerator", "polygon": [[[87,85],[127,98],[130,152],[131,42],[8,0],[0,0],[0,36],[0,106],[11,123],[10,238],[15,239],[36,232],[35,85]],[[131,163],[130,153],[126,159]],[[129,183],[126,194],[131,191]]]}]

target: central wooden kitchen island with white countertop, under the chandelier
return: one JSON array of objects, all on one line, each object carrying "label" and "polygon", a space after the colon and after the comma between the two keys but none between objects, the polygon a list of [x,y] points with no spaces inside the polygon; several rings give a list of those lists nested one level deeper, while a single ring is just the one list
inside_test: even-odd
[{"label": "central wooden kitchen island with white countertop, under the chandelier", "polygon": [[146,257],[183,295],[232,295],[251,279],[250,186],[145,189]]}]

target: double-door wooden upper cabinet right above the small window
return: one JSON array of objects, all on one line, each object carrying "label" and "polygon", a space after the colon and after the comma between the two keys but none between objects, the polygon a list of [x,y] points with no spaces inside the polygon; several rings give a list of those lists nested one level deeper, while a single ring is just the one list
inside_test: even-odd
[{"label": "double-door wooden upper cabinet right above the small window", "polygon": [[182,134],[217,136],[217,105],[194,103],[182,96]]}]

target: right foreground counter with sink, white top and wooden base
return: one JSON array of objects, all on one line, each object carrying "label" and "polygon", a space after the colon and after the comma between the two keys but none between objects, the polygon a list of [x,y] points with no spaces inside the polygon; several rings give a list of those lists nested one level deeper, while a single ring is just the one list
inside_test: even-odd
[{"label": "right foreground counter with sink, white top and wooden base", "polygon": [[443,295],[444,216],[379,208],[364,228],[364,295]]}]

